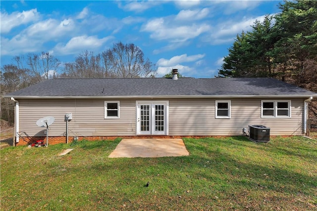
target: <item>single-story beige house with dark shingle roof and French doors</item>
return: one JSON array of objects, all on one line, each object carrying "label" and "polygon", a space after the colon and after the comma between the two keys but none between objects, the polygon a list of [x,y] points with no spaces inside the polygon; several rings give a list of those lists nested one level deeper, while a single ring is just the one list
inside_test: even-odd
[{"label": "single-story beige house with dark shingle roof and French doors", "polygon": [[268,78],[177,79],[174,75],[53,79],[5,97],[16,102],[16,132],[46,137],[46,130],[36,122],[52,116],[49,136],[55,143],[65,143],[66,135],[71,140],[75,136],[242,135],[250,125],[270,127],[271,135],[302,135],[308,102],[317,93]]}]

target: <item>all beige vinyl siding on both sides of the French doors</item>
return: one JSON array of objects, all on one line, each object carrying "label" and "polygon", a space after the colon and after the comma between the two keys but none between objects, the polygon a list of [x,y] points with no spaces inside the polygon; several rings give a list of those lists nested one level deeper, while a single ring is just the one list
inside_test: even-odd
[{"label": "all beige vinyl siding on both sides of the French doors", "polygon": [[[169,101],[169,136],[228,136],[242,135],[242,128],[249,125],[270,127],[271,135],[302,135],[304,98],[291,100],[292,118],[261,118],[261,100],[270,98],[235,98],[231,100],[231,118],[215,119],[215,101],[212,99],[159,99]],[[118,101],[118,99],[109,99]],[[120,99],[120,118],[105,119],[103,99],[19,99],[20,131],[30,136],[46,137],[46,128],[36,121],[53,116],[49,127],[51,136],[65,138],[64,115],[72,113],[68,135],[72,137],[132,137],[136,135],[136,101]],[[223,99],[220,99],[223,100]],[[276,100],[276,98],[274,98]],[[155,101],[155,100],[153,100]],[[166,136],[165,136],[166,137]]]}]

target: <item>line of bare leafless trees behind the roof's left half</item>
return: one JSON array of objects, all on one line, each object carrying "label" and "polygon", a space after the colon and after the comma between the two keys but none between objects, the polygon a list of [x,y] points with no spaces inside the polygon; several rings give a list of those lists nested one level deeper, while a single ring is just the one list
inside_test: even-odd
[{"label": "line of bare leafless trees behind the roof's left half", "polygon": [[[74,62],[62,62],[49,52],[14,56],[1,67],[1,96],[53,78],[149,78],[156,65],[133,43],[114,43],[102,53],[80,53]],[[14,122],[14,102],[1,97],[1,119]]]}]

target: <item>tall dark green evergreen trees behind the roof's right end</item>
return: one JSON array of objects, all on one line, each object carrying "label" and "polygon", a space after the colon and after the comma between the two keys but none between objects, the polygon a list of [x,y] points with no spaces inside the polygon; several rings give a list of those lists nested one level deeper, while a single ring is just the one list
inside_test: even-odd
[{"label": "tall dark green evergreen trees behind the roof's right end", "polygon": [[[269,77],[317,92],[317,1],[279,3],[280,12],[238,34],[218,77]],[[317,117],[317,103],[310,114]]]}]

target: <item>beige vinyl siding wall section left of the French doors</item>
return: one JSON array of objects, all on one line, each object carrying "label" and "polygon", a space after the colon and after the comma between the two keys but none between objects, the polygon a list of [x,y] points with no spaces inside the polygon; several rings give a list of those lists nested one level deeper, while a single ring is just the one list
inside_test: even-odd
[{"label": "beige vinyl siding wall section left of the French doors", "polygon": [[69,136],[135,135],[135,100],[120,100],[120,119],[105,119],[105,100],[102,99],[20,99],[20,131],[31,136],[45,136],[46,128],[36,121],[53,116],[50,136],[66,134],[66,113],[72,113]]}]

